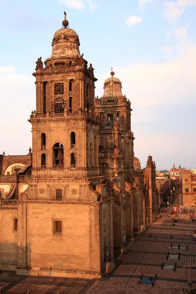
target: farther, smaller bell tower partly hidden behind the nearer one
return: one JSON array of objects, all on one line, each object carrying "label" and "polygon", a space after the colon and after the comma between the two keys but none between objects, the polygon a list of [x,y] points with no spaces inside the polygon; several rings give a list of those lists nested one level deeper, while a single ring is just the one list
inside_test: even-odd
[{"label": "farther, smaller bell tower partly hidden behind the nearer one", "polygon": [[133,172],[133,133],[131,132],[131,103],[122,94],[122,83],[114,77],[104,82],[104,93],[96,98],[99,115],[100,173]]}]

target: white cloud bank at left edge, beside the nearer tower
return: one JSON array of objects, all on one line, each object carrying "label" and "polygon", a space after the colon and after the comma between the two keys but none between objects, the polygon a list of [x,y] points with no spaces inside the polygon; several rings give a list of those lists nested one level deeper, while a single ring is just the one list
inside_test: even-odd
[{"label": "white cloud bank at left edge, beside the nearer tower", "polygon": [[[1,95],[1,150],[6,155],[27,154],[32,146],[31,124],[27,122],[31,110],[35,109],[35,78],[17,74],[15,66],[0,67]],[[21,144],[22,142],[22,144]]]}]

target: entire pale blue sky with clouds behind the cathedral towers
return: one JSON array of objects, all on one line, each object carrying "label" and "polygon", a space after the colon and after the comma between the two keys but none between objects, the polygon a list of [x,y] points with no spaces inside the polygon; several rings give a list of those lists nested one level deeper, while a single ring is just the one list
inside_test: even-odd
[{"label": "entire pale blue sky with clouds behind the cathedral towers", "polygon": [[157,169],[196,168],[196,0],[0,0],[0,153],[32,145],[31,73],[51,54],[63,3],[95,68],[96,96],[111,67],[122,81],[142,167],[150,153]]}]

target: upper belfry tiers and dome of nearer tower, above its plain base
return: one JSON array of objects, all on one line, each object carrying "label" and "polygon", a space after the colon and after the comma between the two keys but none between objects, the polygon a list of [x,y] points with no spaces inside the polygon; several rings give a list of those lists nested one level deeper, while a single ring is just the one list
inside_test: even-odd
[{"label": "upper belfry tiers and dome of nearer tower, above its plain base", "polygon": [[[38,58],[36,111],[32,112],[32,174],[38,177],[95,176],[98,119],[92,64],[79,52],[79,38],[65,20],[52,40],[51,56]],[[87,154],[89,153],[89,155]]]}]

